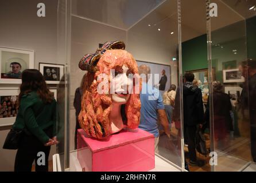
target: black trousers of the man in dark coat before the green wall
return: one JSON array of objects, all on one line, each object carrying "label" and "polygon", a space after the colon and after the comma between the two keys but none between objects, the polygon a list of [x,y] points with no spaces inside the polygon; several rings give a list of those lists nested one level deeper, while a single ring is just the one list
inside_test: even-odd
[{"label": "black trousers of the man in dark coat before the green wall", "polygon": [[197,161],[196,158],[196,126],[184,124],[184,135],[187,134],[189,160]]}]

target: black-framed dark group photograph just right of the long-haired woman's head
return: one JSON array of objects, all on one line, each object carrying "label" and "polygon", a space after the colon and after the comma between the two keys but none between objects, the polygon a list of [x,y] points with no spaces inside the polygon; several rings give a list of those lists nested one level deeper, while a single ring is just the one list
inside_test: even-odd
[{"label": "black-framed dark group photograph just right of the long-haired woman's head", "polygon": [[48,84],[59,84],[64,75],[64,65],[39,63],[39,70]]}]

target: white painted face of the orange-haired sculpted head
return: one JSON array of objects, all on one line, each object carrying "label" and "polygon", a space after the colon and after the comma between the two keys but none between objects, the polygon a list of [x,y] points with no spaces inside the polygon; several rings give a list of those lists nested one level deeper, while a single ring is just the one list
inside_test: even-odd
[{"label": "white painted face of the orange-haired sculpted head", "polygon": [[113,102],[126,104],[129,100],[128,88],[133,84],[133,79],[128,78],[129,74],[131,74],[131,70],[125,65],[115,68],[115,75],[111,75],[115,86],[115,93],[112,94]]}]

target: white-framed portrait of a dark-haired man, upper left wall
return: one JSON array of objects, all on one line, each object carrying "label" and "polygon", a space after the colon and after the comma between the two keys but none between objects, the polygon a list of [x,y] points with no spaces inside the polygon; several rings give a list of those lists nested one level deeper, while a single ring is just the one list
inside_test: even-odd
[{"label": "white-framed portrait of a dark-haired man, upper left wall", "polygon": [[34,51],[0,47],[0,83],[21,83],[21,73],[34,69]]}]

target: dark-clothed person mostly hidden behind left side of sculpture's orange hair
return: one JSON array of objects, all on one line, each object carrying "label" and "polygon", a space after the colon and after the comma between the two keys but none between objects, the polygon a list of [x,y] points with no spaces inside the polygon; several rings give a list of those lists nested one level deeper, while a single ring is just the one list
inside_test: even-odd
[{"label": "dark-clothed person mostly hidden behind left side of sculpture's orange hair", "polygon": [[77,149],[77,129],[80,129],[80,124],[78,121],[78,116],[81,111],[81,102],[82,102],[82,96],[83,96],[83,90],[84,90],[84,82],[85,82],[85,77],[87,73],[84,74],[82,81],[80,83],[80,87],[77,87],[76,92],[75,92],[75,98],[73,101],[73,106],[76,110],[76,131],[75,131],[75,149]]}]

